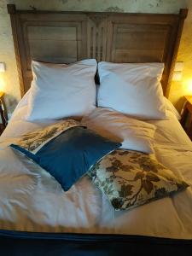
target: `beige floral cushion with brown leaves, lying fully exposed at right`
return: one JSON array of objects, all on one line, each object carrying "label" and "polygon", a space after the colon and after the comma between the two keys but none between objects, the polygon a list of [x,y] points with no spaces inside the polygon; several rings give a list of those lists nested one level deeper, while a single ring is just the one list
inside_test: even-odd
[{"label": "beige floral cushion with brown leaves, lying fully exposed at right", "polygon": [[189,186],[149,154],[124,149],[106,155],[89,175],[115,210],[138,207]]}]

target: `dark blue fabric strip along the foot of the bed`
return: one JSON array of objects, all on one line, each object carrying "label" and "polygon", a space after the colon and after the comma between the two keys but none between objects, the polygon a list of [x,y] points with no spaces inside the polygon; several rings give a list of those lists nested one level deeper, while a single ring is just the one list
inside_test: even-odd
[{"label": "dark blue fabric strip along the foot of the bed", "polygon": [[187,256],[191,255],[191,252],[191,240],[0,230],[2,256]]}]

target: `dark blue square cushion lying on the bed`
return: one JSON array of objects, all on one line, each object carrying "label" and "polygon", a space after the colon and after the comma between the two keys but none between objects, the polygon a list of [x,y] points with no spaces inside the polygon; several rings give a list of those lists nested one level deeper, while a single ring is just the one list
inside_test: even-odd
[{"label": "dark blue square cushion lying on the bed", "polygon": [[49,141],[37,154],[29,153],[15,145],[11,146],[37,162],[67,191],[90,166],[120,145],[78,126]]}]

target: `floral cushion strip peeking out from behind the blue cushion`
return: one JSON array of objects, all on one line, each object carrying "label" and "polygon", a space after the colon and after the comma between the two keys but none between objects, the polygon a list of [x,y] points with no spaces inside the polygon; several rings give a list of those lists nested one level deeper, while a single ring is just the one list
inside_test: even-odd
[{"label": "floral cushion strip peeking out from behind the blue cushion", "polygon": [[49,125],[43,129],[38,129],[31,133],[28,133],[22,137],[22,139],[17,142],[17,145],[21,148],[25,148],[33,154],[36,154],[44,144],[48,143],[51,139],[59,136],[63,131],[75,126],[83,126],[78,121],[73,119],[65,119],[54,125]]}]

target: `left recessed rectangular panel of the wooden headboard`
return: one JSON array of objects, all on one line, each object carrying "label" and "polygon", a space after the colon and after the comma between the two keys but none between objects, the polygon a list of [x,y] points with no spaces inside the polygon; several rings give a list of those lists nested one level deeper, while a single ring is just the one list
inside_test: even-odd
[{"label": "left recessed rectangular panel of the wooden headboard", "polygon": [[28,26],[32,60],[70,63],[77,61],[77,28],[73,26]]}]

